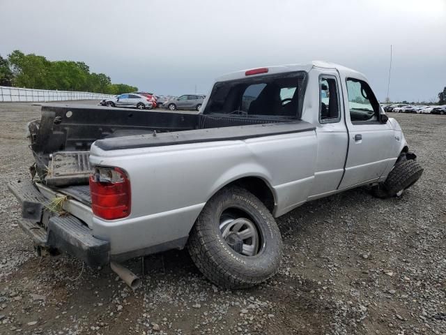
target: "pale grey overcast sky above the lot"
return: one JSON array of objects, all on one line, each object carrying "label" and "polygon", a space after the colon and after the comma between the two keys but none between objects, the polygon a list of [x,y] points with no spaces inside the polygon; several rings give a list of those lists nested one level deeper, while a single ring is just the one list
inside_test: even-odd
[{"label": "pale grey overcast sky above the lot", "polygon": [[206,94],[223,73],[332,61],[380,100],[429,101],[446,86],[446,0],[0,0],[0,54],[84,61],[157,94]]}]

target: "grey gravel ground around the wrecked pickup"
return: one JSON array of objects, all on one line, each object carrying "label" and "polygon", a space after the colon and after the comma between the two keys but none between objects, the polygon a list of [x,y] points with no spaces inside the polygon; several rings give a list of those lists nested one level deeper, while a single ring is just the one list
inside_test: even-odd
[{"label": "grey gravel ground around the wrecked pickup", "polygon": [[132,292],[108,267],[33,255],[6,182],[28,177],[40,107],[0,104],[0,334],[446,334],[446,117],[389,116],[424,166],[401,199],[358,188],[282,216],[282,268],[256,288],[220,290],[171,251]]}]

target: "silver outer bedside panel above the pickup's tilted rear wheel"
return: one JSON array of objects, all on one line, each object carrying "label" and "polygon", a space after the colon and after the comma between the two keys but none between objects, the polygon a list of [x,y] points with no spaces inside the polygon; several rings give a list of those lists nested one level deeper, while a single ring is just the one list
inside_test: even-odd
[{"label": "silver outer bedside panel above the pickup's tilted rear wheel", "polygon": [[93,165],[128,173],[132,207],[122,220],[93,218],[92,229],[111,241],[112,254],[181,239],[213,194],[231,181],[252,176],[270,186],[274,215],[282,215],[307,200],[316,146],[314,131],[114,151],[93,144]]}]

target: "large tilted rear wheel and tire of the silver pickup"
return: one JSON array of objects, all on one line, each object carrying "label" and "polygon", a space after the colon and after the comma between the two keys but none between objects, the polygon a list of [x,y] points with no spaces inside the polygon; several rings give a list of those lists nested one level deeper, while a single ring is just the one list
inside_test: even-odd
[{"label": "large tilted rear wheel and tire of the silver pickup", "polygon": [[206,278],[224,288],[249,288],[279,270],[282,238],[265,205],[244,188],[230,186],[206,203],[187,250]]}]

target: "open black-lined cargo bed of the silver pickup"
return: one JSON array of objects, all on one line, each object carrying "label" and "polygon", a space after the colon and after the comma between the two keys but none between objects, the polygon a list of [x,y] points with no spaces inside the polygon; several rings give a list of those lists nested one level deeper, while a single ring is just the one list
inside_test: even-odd
[{"label": "open black-lined cargo bed of the silver pickup", "polygon": [[[244,140],[312,129],[312,124],[291,117],[43,105],[42,118],[29,124],[29,136],[38,177],[47,186],[60,188],[88,184],[93,142],[100,149],[115,150]],[[73,190],[89,202],[79,191],[82,188]]]}]

